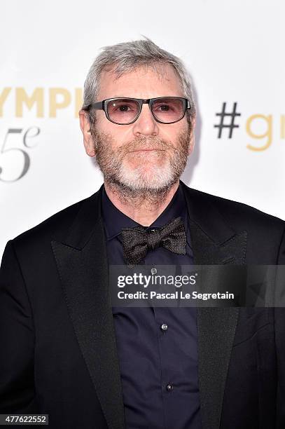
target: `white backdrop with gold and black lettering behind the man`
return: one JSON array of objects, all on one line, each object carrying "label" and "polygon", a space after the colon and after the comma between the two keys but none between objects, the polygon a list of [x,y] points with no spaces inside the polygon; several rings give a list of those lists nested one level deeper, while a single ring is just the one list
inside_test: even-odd
[{"label": "white backdrop with gold and black lettering behind the man", "polygon": [[[283,0],[4,0],[0,11],[0,257],[8,239],[99,189],[75,112],[99,48],[141,35],[193,76],[184,182],[285,219]],[[238,127],[218,138],[216,114],[235,102]]]}]

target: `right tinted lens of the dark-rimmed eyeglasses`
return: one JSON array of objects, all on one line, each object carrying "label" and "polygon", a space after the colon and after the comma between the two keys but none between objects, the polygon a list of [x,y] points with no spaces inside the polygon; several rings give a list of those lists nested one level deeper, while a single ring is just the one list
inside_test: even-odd
[{"label": "right tinted lens of the dark-rimmed eyeglasses", "polygon": [[184,114],[183,100],[179,98],[160,98],[153,102],[152,111],[155,118],[163,123],[179,121]]}]

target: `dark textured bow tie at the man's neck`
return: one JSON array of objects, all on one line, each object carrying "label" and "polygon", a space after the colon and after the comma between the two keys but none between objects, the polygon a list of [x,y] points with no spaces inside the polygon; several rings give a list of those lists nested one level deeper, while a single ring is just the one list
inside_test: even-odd
[{"label": "dark textured bow tie at the man's neck", "polygon": [[146,231],[142,226],[123,228],[123,252],[128,266],[139,264],[155,247],[165,247],[176,254],[186,254],[186,232],[181,217],[158,229]]}]

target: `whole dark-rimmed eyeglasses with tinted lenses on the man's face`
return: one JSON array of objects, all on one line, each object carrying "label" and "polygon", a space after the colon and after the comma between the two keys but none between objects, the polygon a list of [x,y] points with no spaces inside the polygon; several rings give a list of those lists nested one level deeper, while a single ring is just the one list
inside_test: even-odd
[{"label": "whole dark-rimmed eyeglasses with tinted lenses on the man's face", "polygon": [[108,98],[102,102],[89,104],[86,110],[104,110],[106,118],[118,125],[130,125],[139,118],[143,104],[148,104],[155,121],[159,123],[175,123],[181,121],[186,109],[190,109],[187,98],[157,97],[148,98]]}]

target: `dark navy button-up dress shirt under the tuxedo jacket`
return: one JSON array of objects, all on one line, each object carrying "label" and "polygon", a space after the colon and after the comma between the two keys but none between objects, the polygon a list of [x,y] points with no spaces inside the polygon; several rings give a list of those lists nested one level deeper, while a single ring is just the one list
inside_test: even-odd
[{"label": "dark navy button-up dress shirt under the tuxedo jacket", "polygon": [[[124,265],[120,230],[138,226],[102,193],[108,262]],[[141,265],[190,265],[193,253],[181,185],[149,226],[181,217],[186,254],[163,247],[148,251]],[[158,273],[159,274],[159,273]],[[200,429],[197,370],[197,311],[193,307],[113,307],[126,429]]]}]

